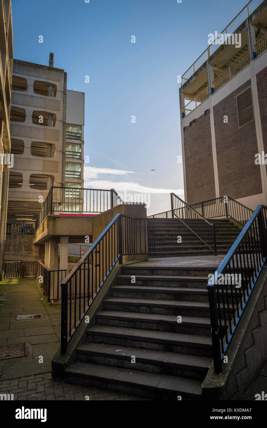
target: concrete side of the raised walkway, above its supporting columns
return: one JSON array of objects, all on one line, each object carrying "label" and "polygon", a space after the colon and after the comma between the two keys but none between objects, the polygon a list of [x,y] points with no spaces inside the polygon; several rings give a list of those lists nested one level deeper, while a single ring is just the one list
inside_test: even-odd
[{"label": "concrete side of the raised walkway, above its supporting columns", "polygon": [[48,214],[41,226],[33,235],[33,244],[54,238],[60,241],[61,236],[69,236],[69,241],[84,242],[85,236],[93,234],[93,218],[82,215]]}]

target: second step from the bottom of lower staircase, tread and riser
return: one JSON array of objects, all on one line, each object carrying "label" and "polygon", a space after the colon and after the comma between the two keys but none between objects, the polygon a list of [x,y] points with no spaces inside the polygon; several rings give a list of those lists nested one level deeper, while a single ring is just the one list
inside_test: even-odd
[{"label": "second step from the bottom of lower staircase, tread and riser", "polygon": [[[132,363],[133,356],[135,363]],[[79,361],[123,367],[125,369],[162,373],[203,380],[211,366],[211,357],[175,354],[153,349],[122,347],[102,343],[84,343],[77,348]]]}]

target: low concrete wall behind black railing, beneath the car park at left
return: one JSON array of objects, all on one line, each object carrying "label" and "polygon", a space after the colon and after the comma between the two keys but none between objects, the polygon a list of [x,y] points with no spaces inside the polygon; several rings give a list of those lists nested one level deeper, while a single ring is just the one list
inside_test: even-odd
[{"label": "low concrete wall behind black railing, beneath the car park at left", "polygon": [[45,260],[45,245],[33,244],[33,235],[6,235],[5,260]]}]

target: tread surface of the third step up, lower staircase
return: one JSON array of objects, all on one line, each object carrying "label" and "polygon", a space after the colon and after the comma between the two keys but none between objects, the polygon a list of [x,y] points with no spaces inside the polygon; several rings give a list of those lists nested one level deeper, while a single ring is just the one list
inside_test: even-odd
[{"label": "tread surface of the third step up, lower staircase", "polygon": [[[184,333],[172,333],[167,331],[155,331],[155,330],[145,330],[139,328],[130,328],[130,327],[113,327],[110,325],[95,325],[86,330],[88,336],[94,334],[104,333],[108,336],[125,336],[127,338],[139,338],[142,340],[148,340],[148,342],[157,340],[157,342],[168,342],[168,343],[181,343],[194,346],[203,346],[205,345],[208,348],[212,348],[211,337],[209,336],[199,336],[194,334],[184,334]],[[150,340],[149,340],[150,339]]]}]

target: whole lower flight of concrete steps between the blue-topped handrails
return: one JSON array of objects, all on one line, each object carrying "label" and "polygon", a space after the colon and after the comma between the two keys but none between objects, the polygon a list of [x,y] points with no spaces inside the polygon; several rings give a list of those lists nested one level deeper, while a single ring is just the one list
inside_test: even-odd
[{"label": "whole lower flight of concrete steps between the blue-topped handrails", "polygon": [[65,381],[198,400],[212,362],[207,283],[217,266],[148,265],[122,268]]}]

